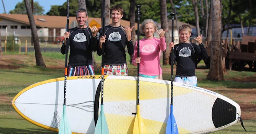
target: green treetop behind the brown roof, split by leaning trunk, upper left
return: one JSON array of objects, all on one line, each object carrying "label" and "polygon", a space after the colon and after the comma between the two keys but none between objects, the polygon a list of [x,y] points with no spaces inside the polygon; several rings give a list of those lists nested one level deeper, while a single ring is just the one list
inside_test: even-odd
[{"label": "green treetop behind the brown roof, split by leaning trunk, upper left", "polygon": [[[34,2],[33,3],[34,15],[43,15],[44,11],[45,11],[44,8],[42,6],[40,6],[37,1],[33,1],[33,2]],[[31,3],[31,0],[30,0],[30,3]],[[11,14],[14,14],[14,13],[16,13],[16,14],[27,14],[27,10],[26,10],[24,1],[18,2],[15,5],[15,9],[9,11],[9,13],[11,13]]]}]

